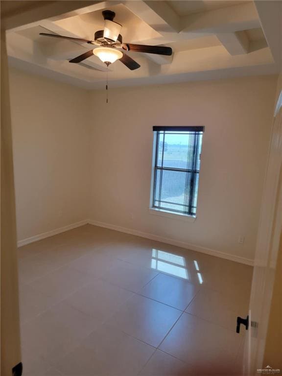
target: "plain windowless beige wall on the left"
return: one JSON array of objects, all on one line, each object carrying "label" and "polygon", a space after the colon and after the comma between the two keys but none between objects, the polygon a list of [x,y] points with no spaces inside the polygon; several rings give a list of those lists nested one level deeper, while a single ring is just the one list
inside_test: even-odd
[{"label": "plain windowless beige wall on the left", "polygon": [[89,93],[10,69],[18,240],[87,218]]}]

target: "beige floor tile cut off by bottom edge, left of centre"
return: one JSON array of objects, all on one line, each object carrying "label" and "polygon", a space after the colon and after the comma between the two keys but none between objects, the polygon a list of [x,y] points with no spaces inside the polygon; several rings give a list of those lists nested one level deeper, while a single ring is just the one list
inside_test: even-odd
[{"label": "beige floor tile cut off by bottom edge, left of centre", "polygon": [[103,325],[56,368],[68,376],[135,376],[155,349],[117,328]]}]

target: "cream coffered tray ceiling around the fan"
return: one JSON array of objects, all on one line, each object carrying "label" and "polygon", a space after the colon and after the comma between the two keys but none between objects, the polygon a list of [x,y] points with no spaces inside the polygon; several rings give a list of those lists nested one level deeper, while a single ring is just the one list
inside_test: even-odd
[{"label": "cream coffered tray ceiling around the fan", "polygon": [[[122,24],[124,42],[173,49],[171,57],[128,52],[141,68],[130,71],[118,61],[112,64],[112,86],[276,73],[282,51],[281,19],[276,15],[282,1],[266,2],[273,17],[263,17],[263,0],[81,1],[84,7],[75,2],[74,10],[74,2],[61,1],[59,16],[8,30],[9,61],[18,68],[85,88],[104,86],[106,66],[97,57],[81,64],[68,61],[89,50],[88,44],[39,33],[94,39],[94,32],[103,29],[102,10],[110,9],[116,12],[115,21]],[[73,3],[71,11],[69,3]]]}]

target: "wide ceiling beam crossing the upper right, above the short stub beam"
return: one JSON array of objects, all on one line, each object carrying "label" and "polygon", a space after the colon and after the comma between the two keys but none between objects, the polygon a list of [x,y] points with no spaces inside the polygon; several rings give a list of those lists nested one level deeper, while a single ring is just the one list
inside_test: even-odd
[{"label": "wide ceiling beam crossing the upper right, above the short stub beam", "polygon": [[220,34],[259,27],[253,2],[182,17],[181,33]]}]

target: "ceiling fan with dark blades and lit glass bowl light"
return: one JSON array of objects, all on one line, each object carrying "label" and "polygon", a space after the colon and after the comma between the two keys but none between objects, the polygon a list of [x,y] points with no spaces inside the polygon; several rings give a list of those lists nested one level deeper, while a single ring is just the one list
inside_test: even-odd
[{"label": "ceiling fan with dark blades and lit glass bowl light", "polygon": [[122,43],[122,36],[119,34],[122,25],[113,21],[116,16],[116,13],[112,12],[111,10],[104,10],[102,14],[105,20],[104,30],[98,30],[95,32],[94,41],[82,38],[65,37],[63,35],[58,34],[40,33],[40,35],[44,35],[47,37],[69,39],[72,41],[85,42],[90,45],[98,46],[94,49],[90,49],[89,51],[84,52],[83,54],[75,57],[74,59],[71,59],[69,61],[70,63],[80,63],[88,57],[95,55],[107,66],[119,60],[127,68],[133,71],[135,69],[140,68],[140,65],[131,57],[126,55],[123,51],[120,51],[120,49],[123,49],[125,51],[155,53],[158,55],[167,56],[170,56],[172,54],[172,49],[170,47],[145,46],[134,45],[131,43]]}]

